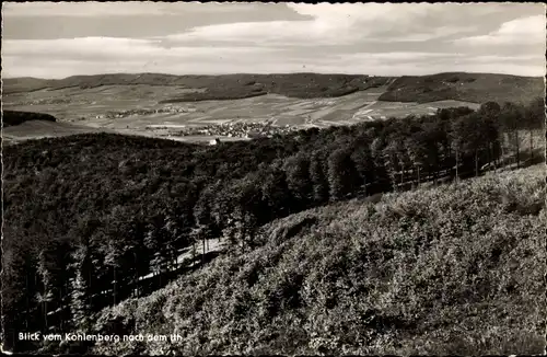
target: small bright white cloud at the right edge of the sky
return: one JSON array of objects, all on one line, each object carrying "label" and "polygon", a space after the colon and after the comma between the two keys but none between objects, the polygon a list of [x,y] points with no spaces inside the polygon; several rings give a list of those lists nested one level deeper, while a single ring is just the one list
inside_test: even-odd
[{"label": "small bright white cloud at the right edge of the sky", "polygon": [[481,36],[464,37],[454,41],[459,45],[498,46],[498,45],[542,45],[545,46],[545,15],[534,15],[504,22],[501,26]]}]

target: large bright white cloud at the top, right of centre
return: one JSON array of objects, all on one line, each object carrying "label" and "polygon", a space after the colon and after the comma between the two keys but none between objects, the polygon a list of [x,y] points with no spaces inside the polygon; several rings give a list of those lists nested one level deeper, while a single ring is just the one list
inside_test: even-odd
[{"label": "large bright white cloud at the top, right of centre", "polygon": [[[350,45],[374,42],[424,42],[468,35],[476,24],[462,15],[457,4],[428,3],[319,3],[288,4],[310,20],[238,22],[195,26],[165,37],[172,43],[234,42],[256,46]],[[447,7],[454,8],[454,15]],[[465,10],[469,12],[473,9]],[[493,9],[478,9],[491,13]]]}]

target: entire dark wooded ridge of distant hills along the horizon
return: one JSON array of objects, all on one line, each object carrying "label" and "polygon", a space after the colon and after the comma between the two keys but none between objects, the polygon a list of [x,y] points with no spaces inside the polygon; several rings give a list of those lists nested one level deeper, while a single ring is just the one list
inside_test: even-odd
[{"label": "entire dark wooded ridge of distant hills along the horizon", "polygon": [[162,103],[205,100],[234,100],[263,94],[289,97],[335,97],[391,83],[380,96],[387,102],[435,102],[456,100],[473,103],[488,101],[527,102],[543,96],[543,78],[492,73],[447,72],[431,76],[370,77],[365,74],[221,74],[174,76],[161,73],[73,76],[59,80],[36,78],[4,79],[4,94],[58,90],[65,88],[93,89],[102,85],[163,85],[184,89],[184,95],[168,96]]}]

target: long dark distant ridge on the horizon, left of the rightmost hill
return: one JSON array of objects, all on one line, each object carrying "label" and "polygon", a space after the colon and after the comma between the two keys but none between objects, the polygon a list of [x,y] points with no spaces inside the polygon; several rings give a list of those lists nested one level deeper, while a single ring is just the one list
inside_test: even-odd
[{"label": "long dark distant ridge on the horizon, left of the rightmost hill", "polygon": [[91,89],[102,85],[170,85],[187,89],[206,89],[189,92],[184,96],[166,97],[165,103],[234,100],[266,93],[291,97],[329,97],[349,94],[359,90],[380,87],[388,79],[382,77],[351,74],[222,74],[222,76],[173,76],[159,73],[73,76],[60,80],[34,78],[4,79],[4,93],[13,94],[38,89],[63,89],[78,87]]}]

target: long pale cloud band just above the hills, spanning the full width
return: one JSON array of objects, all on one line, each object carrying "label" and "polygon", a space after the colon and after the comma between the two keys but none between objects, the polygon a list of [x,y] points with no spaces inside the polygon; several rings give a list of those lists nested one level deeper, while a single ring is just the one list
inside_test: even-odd
[{"label": "long pale cloud band just above the hills, spanning the full width", "polygon": [[[172,47],[130,38],[77,38],[15,42],[2,48],[5,77],[62,78],[112,72],[218,74],[231,72],[427,74],[482,71],[543,76],[540,57],[467,56],[453,53],[325,53],[260,47]],[[49,50],[49,51],[48,51]],[[44,66],[44,64],[47,66]]]}]

